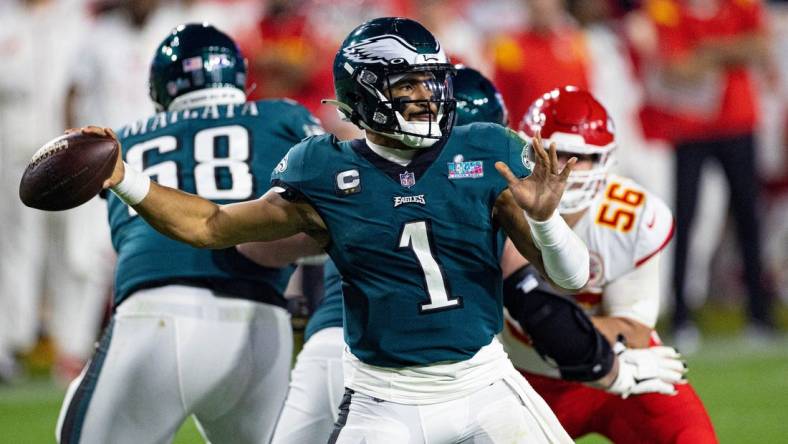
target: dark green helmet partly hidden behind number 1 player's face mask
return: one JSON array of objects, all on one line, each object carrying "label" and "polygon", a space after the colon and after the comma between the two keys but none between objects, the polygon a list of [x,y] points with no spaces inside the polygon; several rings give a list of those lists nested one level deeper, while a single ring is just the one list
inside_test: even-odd
[{"label": "dark green helmet partly hidden behind number 1 player's face mask", "polygon": [[457,125],[473,122],[509,124],[509,111],[501,93],[479,71],[457,65],[454,76],[454,98],[457,101]]}]

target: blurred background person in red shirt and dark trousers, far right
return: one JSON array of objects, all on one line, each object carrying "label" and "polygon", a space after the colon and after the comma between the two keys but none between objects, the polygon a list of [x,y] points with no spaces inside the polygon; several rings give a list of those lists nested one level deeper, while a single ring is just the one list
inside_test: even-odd
[{"label": "blurred background person in red shirt and dark trousers, far right", "polygon": [[761,259],[754,134],[759,105],[751,74],[770,64],[762,2],[650,0],[645,8],[658,45],[643,61],[646,106],[641,120],[646,136],[676,147],[674,335],[694,330],[689,336],[697,336],[685,282],[699,181],[703,165],[711,160],[722,166],[728,181],[749,297],[748,330],[768,337],[775,323]]}]

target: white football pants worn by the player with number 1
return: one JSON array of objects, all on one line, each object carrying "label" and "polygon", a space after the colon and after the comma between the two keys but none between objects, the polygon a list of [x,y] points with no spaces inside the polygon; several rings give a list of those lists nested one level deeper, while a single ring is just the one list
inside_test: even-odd
[{"label": "white football pants worn by the player with number 1", "polygon": [[[519,377],[518,377],[519,376]],[[519,373],[465,398],[405,405],[348,389],[330,444],[571,443]]]}]

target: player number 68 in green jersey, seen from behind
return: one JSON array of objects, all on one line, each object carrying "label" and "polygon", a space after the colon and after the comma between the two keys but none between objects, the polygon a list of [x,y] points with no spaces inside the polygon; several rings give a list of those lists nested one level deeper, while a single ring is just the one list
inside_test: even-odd
[{"label": "player number 68 in green jersey, seen from behind", "polygon": [[[320,126],[292,101],[247,102],[245,73],[235,42],[214,27],[173,30],[151,65],[161,112],[118,131],[123,157],[213,202],[258,197],[287,150]],[[234,248],[192,248],[116,196],[108,204],[114,314],[68,390],[58,441],[170,442],[194,415],[213,443],[268,442],[292,353],[282,297],[292,269],[255,265]]]}]

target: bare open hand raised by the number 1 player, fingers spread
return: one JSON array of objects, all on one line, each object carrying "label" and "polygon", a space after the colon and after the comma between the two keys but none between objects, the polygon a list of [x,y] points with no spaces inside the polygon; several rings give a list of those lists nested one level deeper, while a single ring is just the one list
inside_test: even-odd
[{"label": "bare open hand raised by the number 1 player, fingers spread", "polygon": [[536,153],[536,165],[530,176],[525,179],[517,178],[503,162],[496,162],[495,169],[509,183],[509,190],[512,192],[514,200],[529,217],[535,220],[547,220],[558,207],[558,202],[566,187],[566,180],[569,173],[572,172],[577,158],[569,159],[564,168],[559,171],[555,143],[550,144],[550,153],[548,154],[542,144],[542,136],[537,132],[533,138],[533,146]]}]

